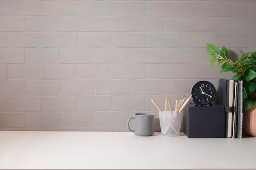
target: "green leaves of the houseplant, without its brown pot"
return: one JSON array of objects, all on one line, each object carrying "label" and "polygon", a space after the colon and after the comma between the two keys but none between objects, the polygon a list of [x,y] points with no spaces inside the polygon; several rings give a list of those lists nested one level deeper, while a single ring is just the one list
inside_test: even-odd
[{"label": "green leaves of the houseplant, without its brown pot", "polygon": [[240,60],[233,62],[229,59],[229,54],[225,46],[220,50],[213,44],[206,44],[206,50],[211,59],[211,66],[217,62],[217,66],[222,64],[220,73],[226,71],[236,72],[232,79],[244,81],[243,105],[245,110],[252,108],[256,104],[256,52],[246,53]]}]

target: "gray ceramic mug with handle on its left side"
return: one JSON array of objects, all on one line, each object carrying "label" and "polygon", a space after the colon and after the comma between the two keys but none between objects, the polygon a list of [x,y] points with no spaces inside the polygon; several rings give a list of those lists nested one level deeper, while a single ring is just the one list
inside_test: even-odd
[{"label": "gray ceramic mug with handle on its left side", "polygon": [[[130,120],[134,119],[133,130],[130,128]],[[155,132],[155,114],[135,113],[127,120],[127,128],[138,136],[151,136]]]}]

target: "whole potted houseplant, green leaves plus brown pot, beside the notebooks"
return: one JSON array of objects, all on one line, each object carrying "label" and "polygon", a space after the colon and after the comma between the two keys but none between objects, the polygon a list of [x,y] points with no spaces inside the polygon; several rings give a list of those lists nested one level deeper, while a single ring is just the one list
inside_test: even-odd
[{"label": "whole potted houseplant, green leaves plus brown pot, beside the notebooks", "polygon": [[243,80],[243,131],[247,135],[256,137],[256,52],[246,53],[240,60],[233,62],[225,46],[221,50],[213,44],[206,44],[207,53],[212,57],[211,66],[217,62],[222,64],[220,73],[226,71],[235,72],[232,79]]}]

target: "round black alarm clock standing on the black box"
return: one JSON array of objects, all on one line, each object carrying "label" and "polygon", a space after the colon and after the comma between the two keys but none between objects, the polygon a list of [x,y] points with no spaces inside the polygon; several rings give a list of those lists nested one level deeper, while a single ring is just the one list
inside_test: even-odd
[{"label": "round black alarm clock standing on the black box", "polygon": [[216,89],[210,82],[200,81],[193,85],[191,88],[191,95],[195,106],[207,105],[212,106],[212,102],[216,97]]}]

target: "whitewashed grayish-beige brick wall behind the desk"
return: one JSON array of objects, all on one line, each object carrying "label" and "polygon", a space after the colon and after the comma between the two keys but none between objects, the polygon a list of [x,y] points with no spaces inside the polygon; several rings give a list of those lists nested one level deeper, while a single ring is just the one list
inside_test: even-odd
[{"label": "whitewashed grayish-beige brick wall behind the desk", "polygon": [[126,130],[256,51],[256,0],[0,0],[1,130]]}]

